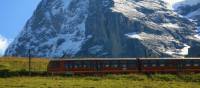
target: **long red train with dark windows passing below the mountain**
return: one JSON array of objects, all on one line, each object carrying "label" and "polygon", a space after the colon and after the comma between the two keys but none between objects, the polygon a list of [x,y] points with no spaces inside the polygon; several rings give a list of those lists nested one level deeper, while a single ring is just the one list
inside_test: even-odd
[{"label": "long red train with dark windows passing below the mountain", "polygon": [[52,74],[199,73],[200,59],[89,58],[51,60]]}]

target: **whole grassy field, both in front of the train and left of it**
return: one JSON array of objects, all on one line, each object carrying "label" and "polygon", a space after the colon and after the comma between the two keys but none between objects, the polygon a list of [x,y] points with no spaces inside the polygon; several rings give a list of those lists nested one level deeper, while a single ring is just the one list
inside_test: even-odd
[{"label": "whole grassy field, both in front of the train and left of it", "polygon": [[[33,72],[46,72],[47,59],[33,59]],[[0,70],[28,71],[26,58],[1,58]],[[94,76],[6,76],[0,88],[200,88],[200,74],[129,74]]]}]

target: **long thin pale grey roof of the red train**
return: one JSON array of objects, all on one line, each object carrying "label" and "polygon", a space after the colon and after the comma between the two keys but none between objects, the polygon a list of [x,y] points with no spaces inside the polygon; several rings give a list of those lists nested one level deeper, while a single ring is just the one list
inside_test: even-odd
[{"label": "long thin pale grey roof of the red train", "polygon": [[187,60],[187,59],[200,59],[200,58],[62,58],[55,59],[51,58],[52,61],[62,60]]}]

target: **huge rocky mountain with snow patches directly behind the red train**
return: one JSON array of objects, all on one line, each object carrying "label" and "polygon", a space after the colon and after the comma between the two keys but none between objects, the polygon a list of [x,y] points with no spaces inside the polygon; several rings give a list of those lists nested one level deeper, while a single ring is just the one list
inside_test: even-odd
[{"label": "huge rocky mountain with snow patches directly behind the red train", "polygon": [[42,0],[5,56],[200,55],[196,24],[167,7],[162,0]]}]

